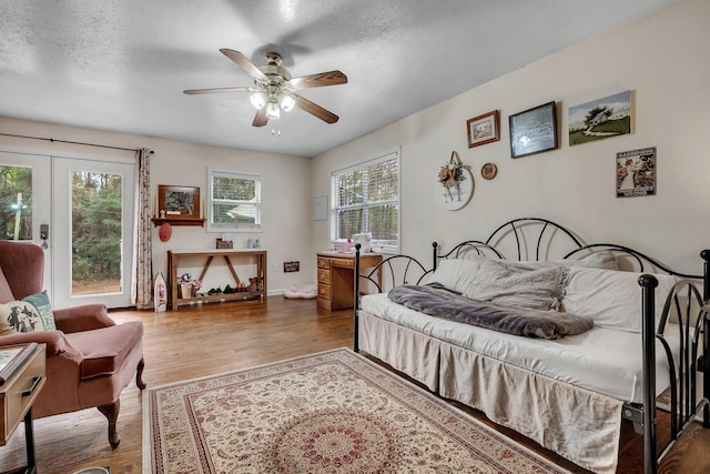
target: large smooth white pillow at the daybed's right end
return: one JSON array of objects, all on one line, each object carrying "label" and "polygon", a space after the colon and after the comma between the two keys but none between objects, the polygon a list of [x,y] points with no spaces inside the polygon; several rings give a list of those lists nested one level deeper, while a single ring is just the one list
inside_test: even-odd
[{"label": "large smooth white pillow at the daybed's right end", "polygon": [[[627,332],[641,332],[641,286],[643,273],[572,266],[569,271],[562,307],[578,316],[591,317],[595,325]],[[673,275],[655,274],[656,319],[666,296],[678,282]]]}]

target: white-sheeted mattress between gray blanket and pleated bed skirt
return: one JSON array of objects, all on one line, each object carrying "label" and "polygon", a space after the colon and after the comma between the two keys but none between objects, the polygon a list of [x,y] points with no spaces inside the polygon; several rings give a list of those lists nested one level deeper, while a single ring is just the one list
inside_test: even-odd
[{"label": "white-sheeted mattress between gray blanket and pleated bed skirt", "polygon": [[[428,316],[393,303],[386,293],[363,296],[361,309],[385,321],[408,327],[488,357],[590,390],[623,402],[641,403],[641,334],[595,326],[558,340],[505,334],[484,327]],[[673,325],[667,340],[673,353],[678,337]],[[668,363],[656,344],[656,393],[668,385]]]}]

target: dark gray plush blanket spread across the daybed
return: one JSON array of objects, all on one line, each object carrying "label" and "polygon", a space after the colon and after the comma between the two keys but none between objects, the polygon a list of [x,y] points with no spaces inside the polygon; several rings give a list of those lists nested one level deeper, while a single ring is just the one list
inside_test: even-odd
[{"label": "dark gray plush blanket spread across the daybed", "polygon": [[580,334],[595,325],[588,317],[569,313],[475,300],[439,283],[397,286],[389,292],[389,300],[432,316],[528,337],[559,339]]}]

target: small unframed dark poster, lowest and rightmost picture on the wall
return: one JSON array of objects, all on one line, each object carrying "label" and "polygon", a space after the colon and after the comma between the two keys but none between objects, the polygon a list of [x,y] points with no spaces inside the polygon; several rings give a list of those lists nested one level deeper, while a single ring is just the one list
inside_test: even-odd
[{"label": "small unframed dark poster, lowest and rightmost picture on the wall", "polygon": [[656,147],[617,153],[617,198],[656,194]]}]

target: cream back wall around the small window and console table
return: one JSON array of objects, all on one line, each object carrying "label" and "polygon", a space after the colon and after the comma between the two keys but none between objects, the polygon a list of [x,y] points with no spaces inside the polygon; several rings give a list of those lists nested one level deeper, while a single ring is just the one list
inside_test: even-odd
[{"label": "cream back wall around the small window and console table", "polygon": [[[292,283],[315,282],[315,256],[310,251],[312,220],[311,163],[308,159],[281,154],[267,154],[245,150],[207,147],[195,143],[155,139],[151,137],[103,132],[80,128],[60,127],[48,123],[29,122],[0,118],[0,131],[9,134],[52,138],[74,142],[99,143],[111,147],[148,147],[154,150],[151,158],[152,195],[159,184],[199,186],[201,195],[206,198],[207,167],[225,171],[252,172],[263,175],[262,218],[263,232],[232,233],[235,248],[246,248],[246,240],[258,236],[261,246],[268,251],[268,292],[281,293]],[[122,157],[134,152],[98,149],[92,147],[51,143],[0,135],[0,150],[39,153],[60,157],[90,158],[95,155]],[[153,201],[151,201],[153,202]],[[206,201],[205,201],[206,202]],[[205,228],[173,225],[172,238],[161,242],[158,228],[153,229],[153,270],[166,272],[168,250],[214,249],[215,239],[221,233],[207,233]],[[283,272],[283,262],[301,261],[301,271]],[[194,266],[180,269],[200,275],[203,262]],[[234,262],[236,263],[236,262]],[[222,266],[222,268],[219,268]],[[251,269],[237,274],[246,279]],[[222,262],[205,276],[205,286],[234,284]]]}]

